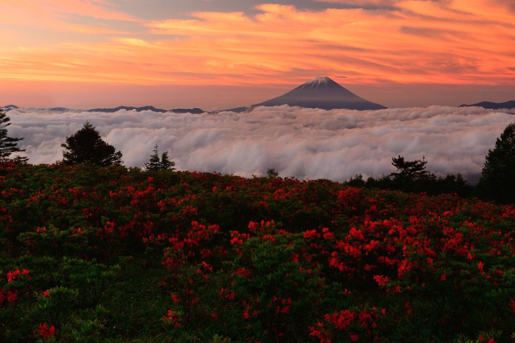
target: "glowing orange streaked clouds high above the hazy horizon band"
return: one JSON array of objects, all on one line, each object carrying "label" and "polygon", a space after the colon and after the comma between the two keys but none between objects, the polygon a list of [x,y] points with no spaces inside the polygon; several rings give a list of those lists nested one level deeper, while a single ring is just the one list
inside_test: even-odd
[{"label": "glowing orange streaked clouds high above the hazy horizon band", "polygon": [[[348,84],[515,81],[511,1],[319,3],[327,8],[262,4],[258,14],[196,11],[189,19],[170,13],[152,21],[105,0],[7,2],[0,5],[4,30],[21,34],[20,27],[37,26],[54,38],[10,40],[0,52],[0,80],[259,85],[327,75],[345,76]],[[349,8],[331,8],[335,4]],[[56,30],[65,32],[60,40]]]}]

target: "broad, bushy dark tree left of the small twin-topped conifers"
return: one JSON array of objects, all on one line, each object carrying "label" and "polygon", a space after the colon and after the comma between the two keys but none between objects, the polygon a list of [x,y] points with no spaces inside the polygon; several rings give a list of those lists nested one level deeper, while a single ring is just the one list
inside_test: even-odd
[{"label": "broad, bushy dark tree left of the small twin-topped conifers", "polygon": [[67,165],[90,162],[96,166],[107,167],[123,163],[122,153],[102,140],[89,122],[75,134],[66,137],[66,143],[61,144],[61,147],[65,149],[63,163]]}]

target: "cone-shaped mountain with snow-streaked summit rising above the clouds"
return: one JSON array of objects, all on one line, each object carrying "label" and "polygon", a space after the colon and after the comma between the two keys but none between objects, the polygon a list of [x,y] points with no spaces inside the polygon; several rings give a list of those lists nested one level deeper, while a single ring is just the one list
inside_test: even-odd
[{"label": "cone-shaped mountain with snow-streaked summit rising above the clouds", "polygon": [[300,106],[322,110],[349,109],[364,111],[383,110],[387,108],[383,105],[358,97],[328,77],[316,77],[312,81],[306,82],[280,97],[260,102],[255,105],[237,107],[227,111],[245,112],[258,106],[280,105]]}]

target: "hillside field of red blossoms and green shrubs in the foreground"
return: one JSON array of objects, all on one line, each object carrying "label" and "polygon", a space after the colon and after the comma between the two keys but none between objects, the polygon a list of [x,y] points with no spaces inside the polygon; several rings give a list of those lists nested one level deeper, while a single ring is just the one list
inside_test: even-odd
[{"label": "hillside field of red blossoms and green shrubs in the foreground", "polygon": [[506,342],[515,207],[0,162],[0,341]]}]

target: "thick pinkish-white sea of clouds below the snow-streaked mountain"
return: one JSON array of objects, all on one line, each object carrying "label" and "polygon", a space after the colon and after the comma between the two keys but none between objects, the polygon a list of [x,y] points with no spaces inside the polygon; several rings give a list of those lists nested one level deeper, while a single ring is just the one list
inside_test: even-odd
[{"label": "thick pinkish-white sea of clouds below the snow-streaked mountain", "polygon": [[202,115],[127,112],[52,112],[25,108],[8,113],[9,135],[25,137],[32,164],[62,159],[61,143],[90,121],[123,153],[126,166],[142,167],[154,145],[167,150],[178,170],[345,180],[394,170],[392,156],[425,156],[437,175],[462,173],[472,182],[488,149],[513,119],[479,107],[380,111],[258,107],[251,113]]}]

